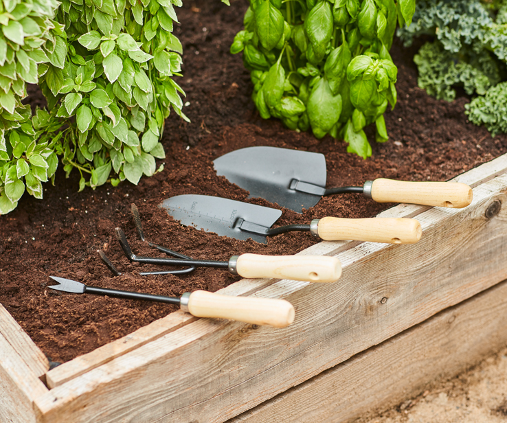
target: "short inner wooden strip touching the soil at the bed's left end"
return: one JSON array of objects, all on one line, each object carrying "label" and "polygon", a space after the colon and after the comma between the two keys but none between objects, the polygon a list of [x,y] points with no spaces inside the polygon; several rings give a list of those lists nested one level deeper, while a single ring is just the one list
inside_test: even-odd
[{"label": "short inner wooden strip touching the soil at the bed's left end", "polygon": [[43,376],[49,369],[44,353],[35,345],[21,326],[14,320],[10,313],[0,304],[0,334],[10,343],[28,367],[37,377]]}]

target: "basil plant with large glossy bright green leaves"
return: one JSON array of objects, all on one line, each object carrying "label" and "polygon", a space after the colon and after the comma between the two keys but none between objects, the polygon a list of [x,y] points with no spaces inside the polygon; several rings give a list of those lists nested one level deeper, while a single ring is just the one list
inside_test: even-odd
[{"label": "basil plant with large glossy bright green leaves", "polygon": [[245,30],[231,46],[243,51],[260,116],[282,119],[317,138],[344,138],[348,151],[372,149],[363,128],[396,104],[397,69],[389,54],[396,23],[410,24],[415,0],[251,0]]}]

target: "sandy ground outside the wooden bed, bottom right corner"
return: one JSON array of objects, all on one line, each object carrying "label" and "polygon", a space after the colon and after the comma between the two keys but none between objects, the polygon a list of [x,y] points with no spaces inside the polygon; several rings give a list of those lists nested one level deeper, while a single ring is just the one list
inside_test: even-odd
[{"label": "sandy ground outside the wooden bed, bottom right corner", "polygon": [[355,423],[506,423],[507,348],[416,398]]}]

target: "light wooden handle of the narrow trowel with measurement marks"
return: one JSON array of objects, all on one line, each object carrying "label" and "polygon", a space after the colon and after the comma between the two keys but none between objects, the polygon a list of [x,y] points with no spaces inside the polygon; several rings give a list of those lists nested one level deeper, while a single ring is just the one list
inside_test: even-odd
[{"label": "light wooden handle of the narrow trowel with measurement marks", "polygon": [[317,225],[319,237],[326,241],[356,240],[415,244],[423,230],[415,219],[406,218],[322,218]]}]

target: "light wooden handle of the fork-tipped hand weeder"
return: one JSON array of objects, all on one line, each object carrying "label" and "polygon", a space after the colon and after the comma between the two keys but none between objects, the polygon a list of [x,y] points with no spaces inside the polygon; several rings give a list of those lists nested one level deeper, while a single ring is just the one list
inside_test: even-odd
[{"label": "light wooden handle of the fork-tipped hand weeder", "polygon": [[294,308],[284,299],[231,297],[197,290],[190,294],[188,311],[196,317],[218,317],[255,325],[285,328],[294,321]]}]

